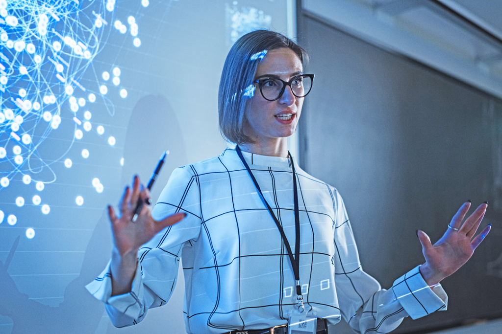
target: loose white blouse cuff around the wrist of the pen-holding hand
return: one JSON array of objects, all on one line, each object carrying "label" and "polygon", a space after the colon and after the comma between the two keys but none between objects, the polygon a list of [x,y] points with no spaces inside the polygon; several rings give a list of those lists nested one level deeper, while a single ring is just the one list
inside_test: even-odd
[{"label": "loose white blouse cuff around the wrist of the pen-holding hand", "polygon": [[108,263],[96,279],[85,287],[96,299],[104,302],[106,306],[112,306],[119,313],[129,315],[133,318],[143,313],[144,288],[141,278],[141,265],[139,263],[131,286],[131,292],[111,296],[110,263]]}]

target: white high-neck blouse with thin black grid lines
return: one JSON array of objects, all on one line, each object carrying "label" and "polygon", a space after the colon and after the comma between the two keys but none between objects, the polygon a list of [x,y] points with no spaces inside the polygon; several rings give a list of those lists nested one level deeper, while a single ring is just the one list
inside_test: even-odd
[{"label": "white high-neck blouse with thin black grid lines", "polygon": [[[295,252],[293,177],[287,158],[242,152]],[[403,317],[446,309],[440,285],[429,288],[418,267],[391,289],[366,274],[338,191],[295,165],[300,208],[300,284],[305,311],[356,332],[388,332]],[[118,327],[141,321],[166,303],[180,259],[188,333],[261,329],[297,310],[296,282],[281,234],[233,149],[176,169],[152,215],[188,215],[138,253],[132,291],[111,297],[109,265],[87,289]]]}]

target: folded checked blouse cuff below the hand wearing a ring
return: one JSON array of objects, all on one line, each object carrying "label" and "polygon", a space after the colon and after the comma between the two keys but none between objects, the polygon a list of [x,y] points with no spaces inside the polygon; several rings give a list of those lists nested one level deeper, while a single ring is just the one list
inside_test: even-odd
[{"label": "folded checked blouse cuff below the hand wearing a ring", "polygon": [[429,287],[416,266],[396,279],[392,289],[394,296],[412,319],[438,310],[446,310],[448,296],[441,284]]}]

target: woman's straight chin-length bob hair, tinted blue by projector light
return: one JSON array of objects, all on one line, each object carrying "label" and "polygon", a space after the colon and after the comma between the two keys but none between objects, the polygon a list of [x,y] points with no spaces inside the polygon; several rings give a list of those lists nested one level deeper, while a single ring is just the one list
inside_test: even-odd
[{"label": "woman's straight chin-length bob hair, tinted blue by projector light", "polygon": [[237,145],[253,143],[244,134],[244,128],[248,124],[246,109],[255,94],[256,69],[267,52],[281,48],[291,49],[304,66],[308,62],[307,52],[302,47],[269,30],[257,30],[242,36],[228,52],[218,91],[219,129],[226,141]]}]

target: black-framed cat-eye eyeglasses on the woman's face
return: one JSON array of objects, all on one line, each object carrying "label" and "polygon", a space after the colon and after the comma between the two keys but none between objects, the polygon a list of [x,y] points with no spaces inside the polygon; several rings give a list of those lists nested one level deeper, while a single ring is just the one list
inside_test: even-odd
[{"label": "black-framed cat-eye eyeglasses on the woman's face", "polygon": [[293,95],[297,98],[307,96],[312,89],[313,81],[313,74],[302,74],[291,78],[288,82],[279,78],[260,78],[255,82],[258,83],[260,92],[262,92],[262,96],[265,100],[276,101],[284,94],[286,86],[291,88]]}]

